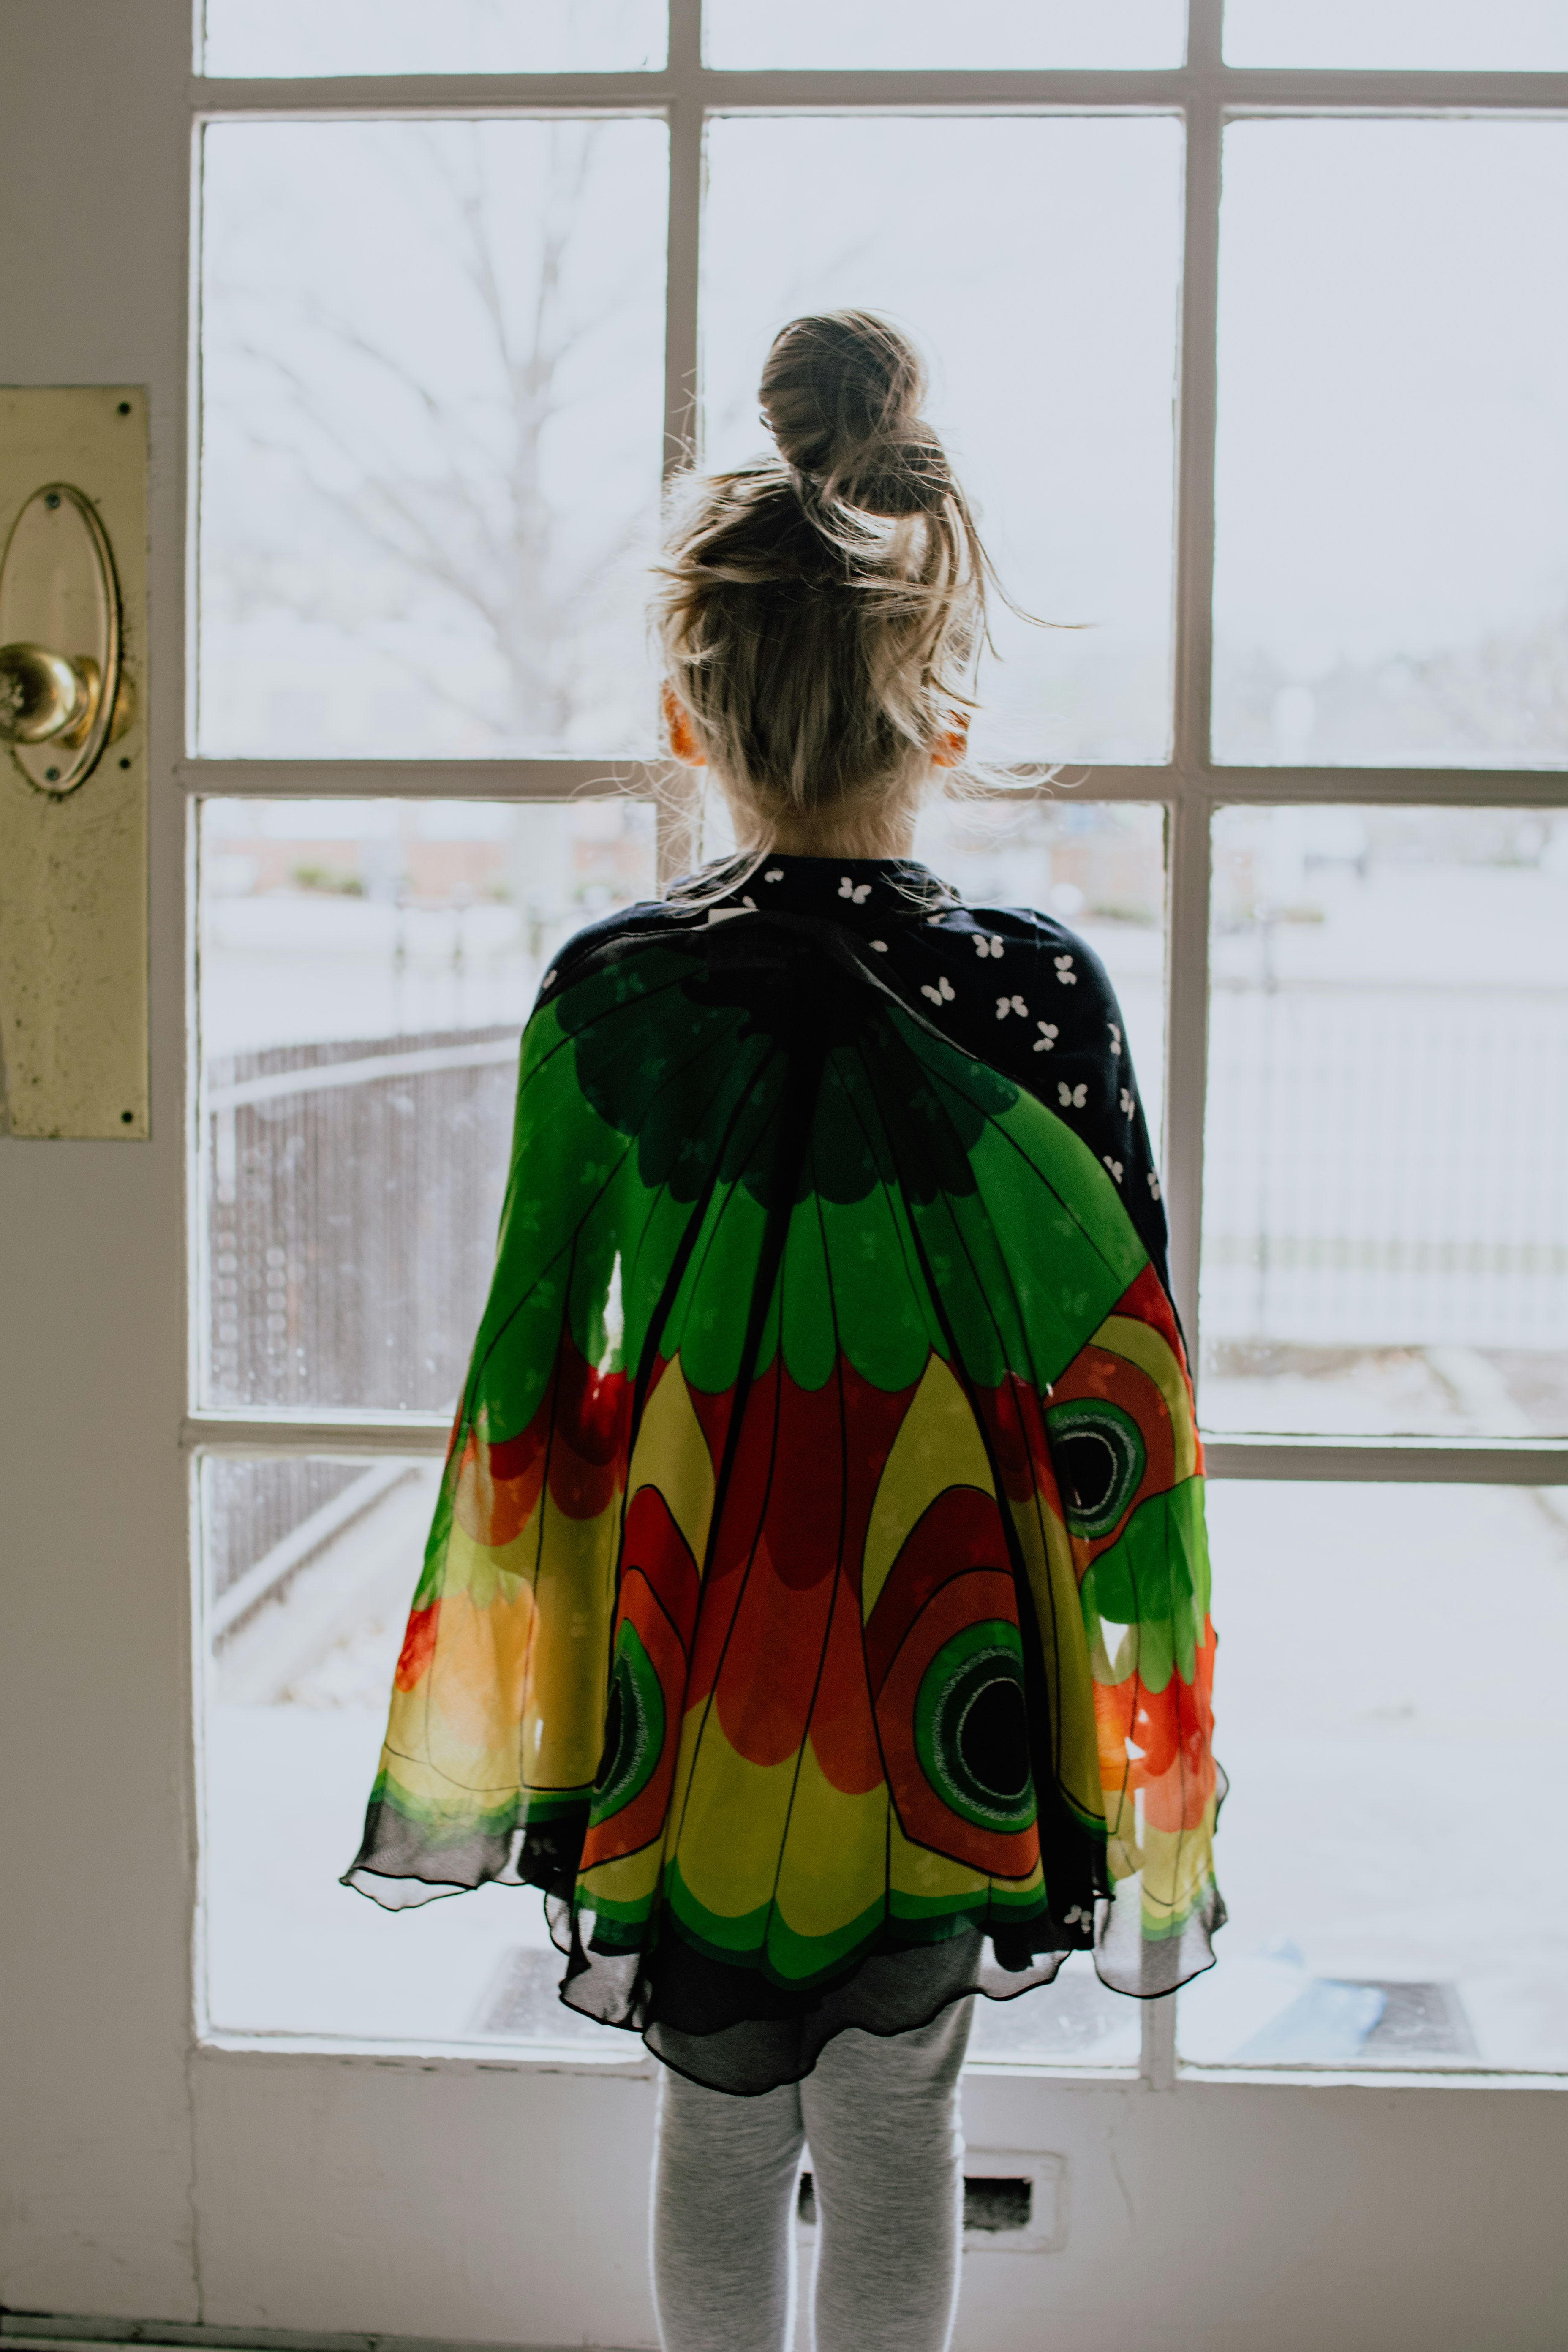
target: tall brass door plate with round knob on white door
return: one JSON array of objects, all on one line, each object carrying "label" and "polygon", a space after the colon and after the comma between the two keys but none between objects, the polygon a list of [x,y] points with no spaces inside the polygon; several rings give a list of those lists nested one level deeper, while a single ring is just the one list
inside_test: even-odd
[{"label": "tall brass door plate with round knob on white door", "polygon": [[0,388],[12,1136],[148,1134],[146,447],[139,386]]}]

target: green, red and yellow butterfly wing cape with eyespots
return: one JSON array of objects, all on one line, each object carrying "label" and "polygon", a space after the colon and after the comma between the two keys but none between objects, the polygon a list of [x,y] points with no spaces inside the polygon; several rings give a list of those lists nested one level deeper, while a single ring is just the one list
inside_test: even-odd
[{"label": "green, red and yellow butterfly wing cape with eyespots", "polygon": [[564,1997],[736,2089],[1074,1947],[1166,1992],[1211,1665],[1182,1343],[1088,1145],[839,924],[569,957],[348,1884],[548,1886]]}]

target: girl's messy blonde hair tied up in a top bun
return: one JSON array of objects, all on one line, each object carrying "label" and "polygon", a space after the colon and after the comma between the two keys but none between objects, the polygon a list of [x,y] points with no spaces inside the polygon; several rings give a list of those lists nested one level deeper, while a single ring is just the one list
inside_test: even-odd
[{"label": "girl's messy blonde hair tied up in a top bun", "polygon": [[990,562],[924,397],[886,320],[797,318],[762,369],[778,456],[670,494],[668,677],[759,830],[823,809],[875,830],[971,708]]}]

